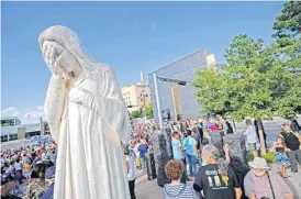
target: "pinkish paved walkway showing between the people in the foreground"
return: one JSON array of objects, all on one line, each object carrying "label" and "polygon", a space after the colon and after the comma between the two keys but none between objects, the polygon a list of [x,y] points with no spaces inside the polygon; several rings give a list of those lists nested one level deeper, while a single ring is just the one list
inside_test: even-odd
[{"label": "pinkish paved walkway showing between the people in the foreground", "polygon": [[[271,166],[272,172],[278,173],[276,165]],[[301,169],[300,169],[301,170]],[[290,178],[285,178],[287,185],[291,188],[294,199],[301,199],[301,172],[293,174],[288,172],[291,175]],[[137,199],[163,199],[163,188],[157,185],[157,179],[149,181],[146,175],[141,175],[136,179],[135,187],[136,198]]]}]

